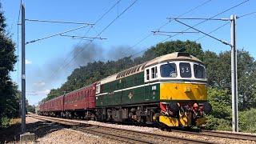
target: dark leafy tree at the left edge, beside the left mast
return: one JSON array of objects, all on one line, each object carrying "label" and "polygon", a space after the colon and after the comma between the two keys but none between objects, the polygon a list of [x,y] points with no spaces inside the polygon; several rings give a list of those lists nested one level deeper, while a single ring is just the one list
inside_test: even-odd
[{"label": "dark leafy tree at the left edge, beside the left mast", "polygon": [[18,116],[18,90],[10,79],[17,56],[14,54],[14,42],[6,33],[5,21],[0,2],[0,126],[3,119]]}]

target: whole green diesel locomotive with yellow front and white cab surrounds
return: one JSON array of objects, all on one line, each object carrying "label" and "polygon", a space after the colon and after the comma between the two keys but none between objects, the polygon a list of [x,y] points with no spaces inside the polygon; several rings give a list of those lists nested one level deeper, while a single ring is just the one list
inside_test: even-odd
[{"label": "whole green diesel locomotive with yellow front and white cab surrounds", "polygon": [[117,122],[201,126],[209,113],[203,63],[190,54],[155,58],[98,82],[98,117]]}]

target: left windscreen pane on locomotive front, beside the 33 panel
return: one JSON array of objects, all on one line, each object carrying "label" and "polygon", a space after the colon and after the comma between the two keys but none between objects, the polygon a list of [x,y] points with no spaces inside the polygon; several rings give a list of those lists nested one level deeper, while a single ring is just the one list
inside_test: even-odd
[{"label": "left windscreen pane on locomotive front, beside the 33 panel", "polygon": [[162,78],[176,78],[177,77],[177,69],[175,63],[167,63],[160,67],[160,72]]}]

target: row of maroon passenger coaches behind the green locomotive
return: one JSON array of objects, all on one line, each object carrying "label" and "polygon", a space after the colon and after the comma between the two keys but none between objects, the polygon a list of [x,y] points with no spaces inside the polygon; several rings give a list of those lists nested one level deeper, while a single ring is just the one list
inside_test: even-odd
[{"label": "row of maroon passenger coaches behind the green locomotive", "polygon": [[95,86],[96,83],[84,86],[40,104],[39,114],[66,118],[95,118]]}]

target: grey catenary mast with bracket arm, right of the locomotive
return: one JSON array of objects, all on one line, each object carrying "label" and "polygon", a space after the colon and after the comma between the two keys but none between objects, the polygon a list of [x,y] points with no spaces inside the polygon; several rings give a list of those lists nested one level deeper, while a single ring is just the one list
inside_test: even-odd
[{"label": "grey catenary mast with bracket arm, right of the locomotive", "polygon": [[[174,19],[176,22],[181,23],[182,25],[188,26],[193,30],[197,30],[198,32],[205,34],[206,36],[210,38],[214,38],[215,40],[222,42],[225,45],[228,45],[231,47],[231,85],[232,85],[232,129],[235,132],[238,132],[238,68],[237,68],[237,46],[236,46],[236,15],[231,15],[230,18],[167,18],[167,19]],[[230,35],[231,35],[231,43],[223,41],[221,39],[215,38],[209,34],[206,34],[202,32],[201,30],[195,29],[194,26],[189,26],[184,22],[178,21],[178,19],[201,19],[201,20],[219,20],[219,21],[230,21]],[[185,30],[184,30],[185,31]],[[183,32],[183,31],[182,31]],[[211,106],[209,106],[209,103],[206,104],[206,113],[210,112]]]}]

